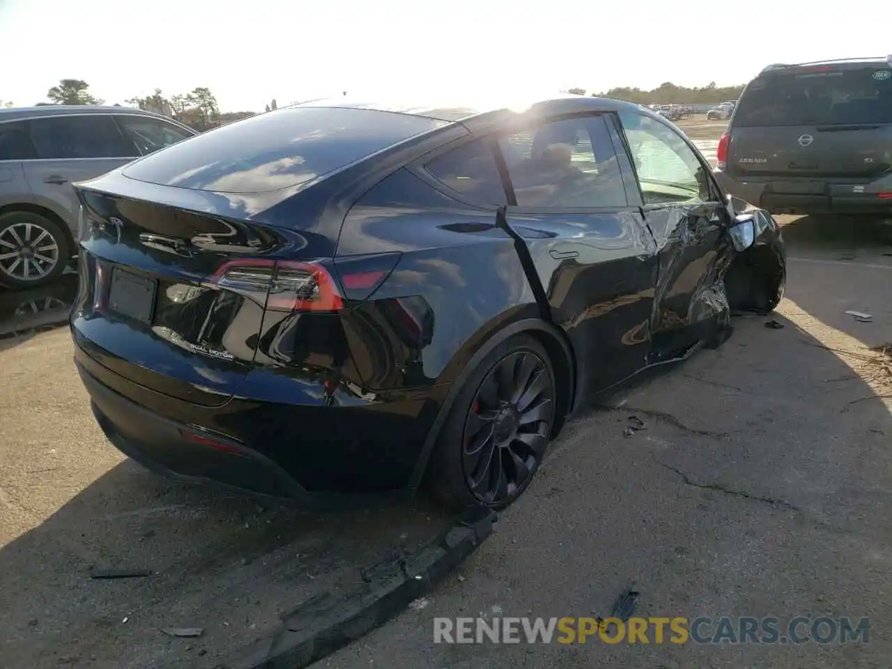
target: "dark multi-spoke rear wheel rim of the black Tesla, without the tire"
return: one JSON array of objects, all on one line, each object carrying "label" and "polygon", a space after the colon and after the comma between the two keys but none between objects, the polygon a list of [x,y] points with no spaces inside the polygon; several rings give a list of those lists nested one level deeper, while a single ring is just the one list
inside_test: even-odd
[{"label": "dark multi-spoke rear wheel rim of the black Tesla, without the tire", "polygon": [[533,478],[549,441],[554,393],[551,372],[533,351],[509,354],[483,377],[462,451],[465,482],[477,500],[504,504]]}]

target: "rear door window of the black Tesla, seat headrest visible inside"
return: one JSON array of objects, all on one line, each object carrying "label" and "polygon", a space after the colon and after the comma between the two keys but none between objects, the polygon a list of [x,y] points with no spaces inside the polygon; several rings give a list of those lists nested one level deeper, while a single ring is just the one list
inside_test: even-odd
[{"label": "rear door window of the black Tesla, seat headrest visible inside", "polygon": [[602,116],[557,120],[499,141],[517,206],[619,208],[628,204]]}]

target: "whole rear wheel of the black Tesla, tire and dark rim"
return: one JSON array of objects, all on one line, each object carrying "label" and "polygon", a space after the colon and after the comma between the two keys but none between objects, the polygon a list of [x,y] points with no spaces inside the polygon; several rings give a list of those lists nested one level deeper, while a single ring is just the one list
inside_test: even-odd
[{"label": "whole rear wheel of the black Tesla, tire and dark rim", "polygon": [[427,467],[434,498],[450,509],[508,507],[541,465],[556,404],[541,343],[523,334],[500,343],[468,377],[442,426]]}]

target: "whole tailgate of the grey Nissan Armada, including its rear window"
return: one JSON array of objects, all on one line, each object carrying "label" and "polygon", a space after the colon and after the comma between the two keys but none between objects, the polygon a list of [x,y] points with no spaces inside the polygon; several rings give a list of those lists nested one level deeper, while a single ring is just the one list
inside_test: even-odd
[{"label": "whole tailgate of the grey Nissan Armada, including its rear window", "polygon": [[892,169],[892,69],[845,62],[766,72],[741,95],[730,132],[731,177],[869,182]]}]

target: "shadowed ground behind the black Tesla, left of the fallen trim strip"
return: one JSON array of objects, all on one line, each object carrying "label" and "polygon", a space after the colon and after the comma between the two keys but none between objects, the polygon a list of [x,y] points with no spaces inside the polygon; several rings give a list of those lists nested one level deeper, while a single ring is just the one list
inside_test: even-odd
[{"label": "shadowed ground behind the black Tesla, left of the fallen trim strip", "polygon": [[170,483],[124,460],[0,549],[0,664],[215,666],[450,520],[425,500],[310,513]]}]

